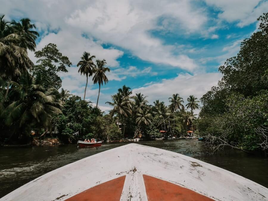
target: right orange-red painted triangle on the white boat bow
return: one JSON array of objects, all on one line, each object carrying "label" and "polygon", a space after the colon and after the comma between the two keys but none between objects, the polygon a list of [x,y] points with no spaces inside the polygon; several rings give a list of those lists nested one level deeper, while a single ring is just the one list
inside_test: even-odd
[{"label": "right orange-red painted triangle on the white boat bow", "polygon": [[148,175],[143,175],[148,201],[212,200],[190,189]]}]

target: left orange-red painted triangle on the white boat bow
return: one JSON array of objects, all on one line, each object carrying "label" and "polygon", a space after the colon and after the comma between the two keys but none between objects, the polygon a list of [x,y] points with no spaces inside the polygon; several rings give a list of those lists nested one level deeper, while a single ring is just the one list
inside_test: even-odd
[{"label": "left orange-red painted triangle on the white boat bow", "polygon": [[85,190],[73,197],[68,198],[68,201],[119,201],[124,187],[126,176],[122,176],[105,183],[94,186]]}]

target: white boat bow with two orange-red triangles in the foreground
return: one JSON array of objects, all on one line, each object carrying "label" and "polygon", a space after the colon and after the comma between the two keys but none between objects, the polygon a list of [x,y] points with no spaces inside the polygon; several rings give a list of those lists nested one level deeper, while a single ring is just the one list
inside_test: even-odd
[{"label": "white boat bow with two orange-red triangles in the foreground", "polygon": [[203,161],[130,143],[48,172],[0,200],[267,200],[268,189]]}]

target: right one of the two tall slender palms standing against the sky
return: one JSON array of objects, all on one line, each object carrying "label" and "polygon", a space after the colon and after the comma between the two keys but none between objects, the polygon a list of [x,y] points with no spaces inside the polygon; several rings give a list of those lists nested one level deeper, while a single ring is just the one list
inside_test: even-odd
[{"label": "right one of the two tall slender palms standing against the sky", "polygon": [[[99,84],[99,92],[100,92],[100,85],[103,85],[103,82],[106,84],[108,82],[108,78],[106,77],[105,73],[106,71],[110,72],[110,68],[108,67],[104,67],[106,63],[106,60],[103,59],[101,60],[96,60],[97,63],[97,67],[94,68],[94,77],[93,77],[93,82],[94,84]],[[96,108],[98,107],[98,103],[99,103],[99,95],[98,95],[98,99],[97,99],[97,105]]]}]

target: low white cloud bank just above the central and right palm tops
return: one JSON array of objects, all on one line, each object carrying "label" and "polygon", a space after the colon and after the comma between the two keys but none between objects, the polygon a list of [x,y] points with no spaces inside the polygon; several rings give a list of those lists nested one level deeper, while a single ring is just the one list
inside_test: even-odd
[{"label": "low white cloud bank just above the central and right palm tops", "polygon": [[200,99],[212,86],[217,86],[221,77],[221,73],[179,74],[173,79],[163,79],[160,83],[146,84],[144,87],[133,89],[133,94],[141,92],[147,95],[150,104],[159,99],[169,105],[168,98],[179,93],[185,105],[189,95]]}]

